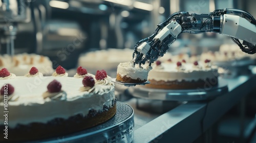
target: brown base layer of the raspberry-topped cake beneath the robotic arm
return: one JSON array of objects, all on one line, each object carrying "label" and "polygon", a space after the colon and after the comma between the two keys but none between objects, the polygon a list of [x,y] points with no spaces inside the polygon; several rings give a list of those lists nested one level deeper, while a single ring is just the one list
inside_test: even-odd
[{"label": "brown base layer of the raspberry-topped cake beneath the robotic arm", "polygon": [[197,88],[208,88],[209,86],[218,85],[218,77],[207,78],[205,80],[199,79],[198,81],[156,81],[148,80],[150,84],[146,84],[147,88],[156,88],[156,89],[197,89]]}]

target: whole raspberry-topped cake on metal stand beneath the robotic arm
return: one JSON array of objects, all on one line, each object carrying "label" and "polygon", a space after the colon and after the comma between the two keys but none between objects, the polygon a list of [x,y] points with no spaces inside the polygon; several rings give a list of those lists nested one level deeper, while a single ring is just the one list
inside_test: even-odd
[{"label": "whole raspberry-topped cake on metal stand beneath the robotic arm", "polygon": [[186,63],[156,61],[148,73],[150,84],[145,87],[157,89],[197,89],[218,85],[218,71],[209,60]]}]

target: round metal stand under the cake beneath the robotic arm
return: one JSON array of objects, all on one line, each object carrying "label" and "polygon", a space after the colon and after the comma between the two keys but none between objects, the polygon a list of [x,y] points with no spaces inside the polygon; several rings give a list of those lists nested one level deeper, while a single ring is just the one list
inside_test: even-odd
[{"label": "round metal stand under the cake beneath the robotic arm", "polygon": [[162,101],[202,101],[216,98],[228,91],[227,82],[219,79],[216,87],[184,89],[184,90],[165,90],[145,88],[142,86],[131,87],[128,89],[136,98]]}]

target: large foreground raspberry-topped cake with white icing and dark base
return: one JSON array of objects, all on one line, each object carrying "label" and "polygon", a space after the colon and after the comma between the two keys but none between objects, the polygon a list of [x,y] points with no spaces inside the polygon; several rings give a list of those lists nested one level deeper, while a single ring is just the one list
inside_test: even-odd
[{"label": "large foreground raspberry-topped cake with white icing and dark base", "polygon": [[[63,71],[64,70],[64,71]],[[74,77],[42,76],[32,67],[25,76],[0,70],[1,141],[27,141],[65,135],[108,121],[116,113],[115,88],[104,70],[77,68]],[[8,138],[8,139],[6,139]]]}]

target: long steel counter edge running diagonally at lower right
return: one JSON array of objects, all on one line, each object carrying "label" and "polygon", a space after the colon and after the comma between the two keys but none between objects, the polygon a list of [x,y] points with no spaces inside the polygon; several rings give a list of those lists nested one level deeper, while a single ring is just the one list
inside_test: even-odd
[{"label": "long steel counter edge running diagonally at lower right", "polygon": [[126,101],[135,112],[133,142],[193,142],[253,90],[256,75],[226,81],[228,92],[222,96],[211,101],[183,103],[163,114],[137,109],[136,98]]}]

